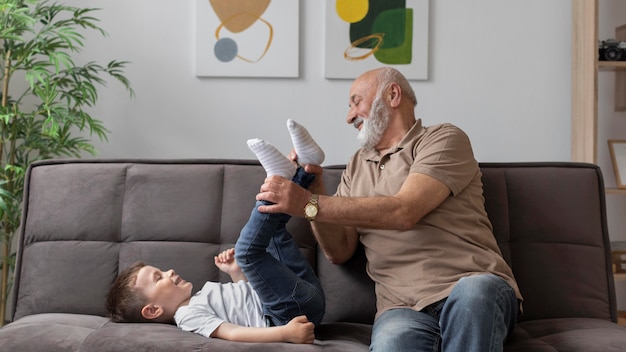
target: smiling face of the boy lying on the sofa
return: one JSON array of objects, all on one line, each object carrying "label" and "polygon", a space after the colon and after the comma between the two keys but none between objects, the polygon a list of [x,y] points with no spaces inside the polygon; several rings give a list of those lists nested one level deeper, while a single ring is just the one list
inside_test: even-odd
[{"label": "smiling face of the boy lying on the sofa", "polygon": [[162,271],[146,265],[137,272],[136,288],[146,296],[148,305],[162,308],[166,317],[173,317],[178,307],[188,303],[192,287],[171,269]]}]

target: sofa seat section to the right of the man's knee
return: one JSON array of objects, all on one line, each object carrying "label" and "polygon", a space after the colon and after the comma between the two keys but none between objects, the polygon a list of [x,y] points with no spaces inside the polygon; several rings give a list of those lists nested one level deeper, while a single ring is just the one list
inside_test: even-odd
[{"label": "sofa seat section to the right of the man's knee", "polygon": [[624,328],[608,320],[559,318],[517,324],[505,352],[620,351],[626,348]]}]

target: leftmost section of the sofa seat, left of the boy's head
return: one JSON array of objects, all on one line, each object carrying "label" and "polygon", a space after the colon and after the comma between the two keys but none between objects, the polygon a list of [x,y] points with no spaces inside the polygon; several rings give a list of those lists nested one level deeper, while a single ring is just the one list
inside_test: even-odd
[{"label": "leftmost section of the sofa seat, left of the boy's head", "polygon": [[2,351],[78,351],[85,339],[108,319],[82,314],[29,315],[3,327]]}]

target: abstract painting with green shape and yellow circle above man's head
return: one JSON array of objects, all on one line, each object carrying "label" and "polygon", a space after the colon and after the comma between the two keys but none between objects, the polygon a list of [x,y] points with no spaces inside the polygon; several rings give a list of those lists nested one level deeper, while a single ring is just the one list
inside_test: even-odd
[{"label": "abstract painting with green shape and yellow circle above man's head", "polygon": [[325,77],[393,66],[428,79],[429,0],[326,0]]}]

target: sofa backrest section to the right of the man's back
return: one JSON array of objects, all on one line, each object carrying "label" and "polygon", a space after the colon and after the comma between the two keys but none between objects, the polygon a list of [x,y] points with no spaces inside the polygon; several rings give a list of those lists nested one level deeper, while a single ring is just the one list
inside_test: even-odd
[{"label": "sofa backrest section to the right of the man's back", "polygon": [[616,321],[600,168],[481,163],[485,207],[524,296],[521,321]]}]

